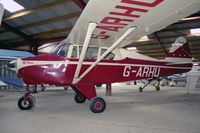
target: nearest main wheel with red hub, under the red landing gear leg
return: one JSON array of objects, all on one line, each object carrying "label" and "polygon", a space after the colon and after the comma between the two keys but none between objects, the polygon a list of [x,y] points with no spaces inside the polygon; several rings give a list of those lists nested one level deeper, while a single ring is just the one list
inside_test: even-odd
[{"label": "nearest main wheel with red hub, under the red landing gear leg", "polygon": [[106,109],[106,102],[101,97],[95,97],[90,102],[90,110],[94,113],[101,113]]}]

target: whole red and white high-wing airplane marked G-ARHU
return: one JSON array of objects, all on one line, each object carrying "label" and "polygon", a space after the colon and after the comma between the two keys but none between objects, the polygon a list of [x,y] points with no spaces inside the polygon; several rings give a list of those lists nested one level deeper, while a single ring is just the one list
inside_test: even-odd
[{"label": "whole red and white high-wing airplane marked G-ARHU", "polygon": [[199,4],[199,0],[90,0],[69,36],[51,54],[16,61],[18,76],[27,84],[19,108],[34,105],[28,85],[55,84],[71,86],[77,103],[91,100],[91,111],[100,113],[106,103],[97,97],[96,84],[188,72],[192,55],[183,37],[165,60],[122,47],[197,12]]}]

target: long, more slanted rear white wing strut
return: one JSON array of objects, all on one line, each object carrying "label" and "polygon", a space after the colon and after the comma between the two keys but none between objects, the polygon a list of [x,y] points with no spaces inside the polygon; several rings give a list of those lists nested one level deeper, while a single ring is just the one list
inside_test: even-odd
[{"label": "long, more slanted rear white wing strut", "polygon": [[86,74],[88,74],[106,55],[113,51],[131,32],[137,27],[130,27],[113,45],[107,49],[74,83],[78,83]]}]

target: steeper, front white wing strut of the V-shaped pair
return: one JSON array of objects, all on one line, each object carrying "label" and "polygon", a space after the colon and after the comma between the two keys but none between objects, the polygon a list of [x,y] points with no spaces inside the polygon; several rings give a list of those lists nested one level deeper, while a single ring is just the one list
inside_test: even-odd
[{"label": "steeper, front white wing strut of the V-shaped pair", "polygon": [[83,64],[83,59],[85,58],[85,54],[86,54],[86,51],[87,51],[87,48],[88,48],[88,45],[89,45],[89,42],[90,42],[90,39],[91,39],[91,36],[92,36],[92,32],[94,31],[96,26],[97,26],[96,22],[89,22],[87,34],[85,36],[85,41],[83,43],[83,48],[82,48],[81,55],[80,55],[80,59],[79,59],[79,62],[78,62],[78,66],[76,68],[75,75],[74,75],[73,84],[77,83],[78,76],[79,76],[79,73],[80,73],[80,70],[81,70],[81,67],[82,67],[82,64]]}]

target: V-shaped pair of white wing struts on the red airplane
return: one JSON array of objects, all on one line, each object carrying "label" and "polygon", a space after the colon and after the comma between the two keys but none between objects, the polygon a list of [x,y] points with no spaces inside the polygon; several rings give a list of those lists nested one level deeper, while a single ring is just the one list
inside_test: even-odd
[{"label": "V-shaped pair of white wing struts on the red airplane", "polygon": [[[137,27],[133,26],[130,27],[113,45],[107,49],[97,60],[82,74],[79,76],[81,66],[83,64],[83,59],[85,57],[90,38],[92,36],[92,32],[96,28],[97,23],[90,22],[87,30],[87,34],[85,37],[85,41],[83,44],[83,49],[81,51],[80,59],[78,62],[78,66],[76,68],[75,76],[73,79],[73,84],[77,84],[82,78],[84,78],[85,75],[87,75],[102,59],[104,59],[105,56],[107,56],[110,52],[112,52],[131,32],[133,32]],[[79,76],[79,77],[78,77]]]}]

